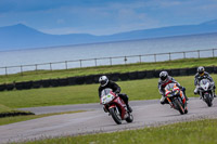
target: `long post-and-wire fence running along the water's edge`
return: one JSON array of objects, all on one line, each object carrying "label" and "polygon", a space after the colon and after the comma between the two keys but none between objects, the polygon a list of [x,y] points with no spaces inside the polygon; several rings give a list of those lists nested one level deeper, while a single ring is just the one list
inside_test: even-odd
[{"label": "long post-and-wire fence running along the water's edge", "polygon": [[182,51],[182,52],[169,52],[169,53],[155,53],[155,54],[141,54],[141,55],[128,55],[128,56],[114,56],[114,57],[99,57],[75,61],[63,61],[52,63],[41,63],[31,65],[20,66],[5,66],[0,67],[0,75],[21,74],[24,71],[37,71],[37,70],[56,70],[56,69],[71,69],[82,68],[93,66],[106,66],[118,64],[133,64],[143,62],[162,62],[179,58],[201,58],[201,57],[215,57],[217,56],[217,49],[208,50],[195,50],[195,51]]}]

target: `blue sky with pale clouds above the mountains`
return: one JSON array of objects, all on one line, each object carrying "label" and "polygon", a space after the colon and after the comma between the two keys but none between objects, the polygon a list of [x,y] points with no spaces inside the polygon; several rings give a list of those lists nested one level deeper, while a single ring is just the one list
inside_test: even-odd
[{"label": "blue sky with pale clouds above the mountains", "polygon": [[217,0],[0,0],[0,27],[111,35],[217,19]]}]

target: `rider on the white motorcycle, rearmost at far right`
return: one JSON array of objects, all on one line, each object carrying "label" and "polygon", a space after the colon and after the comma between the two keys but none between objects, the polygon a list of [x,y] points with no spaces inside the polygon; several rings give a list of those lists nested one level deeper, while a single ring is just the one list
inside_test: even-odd
[{"label": "rider on the white motorcycle, rearmost at far right", "polygon": [[216,89],[215,82],[214,82],[213,78],[210,77],[210,75],[207,71],[205,71],[205,68],[203,66],[197,67],[197,73],[194,76],[194,86],[196,87],[194,89],[194,94],[200,94],[199,93],[199,87],[200,87],[199,83],[200,83],[200,81],[202,79],[208,79],[210,81],[210,86],[213,86],[213,88],[214,88],[214,90],[213,90],[214,97],[216,97],[216,94],[215,94],[215,89]]}]

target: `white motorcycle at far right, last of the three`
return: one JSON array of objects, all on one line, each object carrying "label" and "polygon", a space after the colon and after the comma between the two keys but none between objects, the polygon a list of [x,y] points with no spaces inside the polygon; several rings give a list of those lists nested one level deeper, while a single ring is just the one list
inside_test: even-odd
[{"label": "white motorcycle at far right, last of the three", "polygon": [[213,105],[214,100],[214,84],[212,84],[208,79],[202,79],[199,84],[200,96],[208,105],[208,107],[210,107]]}]

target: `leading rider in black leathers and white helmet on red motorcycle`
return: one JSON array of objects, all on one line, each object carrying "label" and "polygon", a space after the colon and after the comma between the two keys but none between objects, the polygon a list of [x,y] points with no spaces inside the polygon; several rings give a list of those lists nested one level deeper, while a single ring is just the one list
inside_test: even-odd
[{"label": "leading rider in black leathers and white helmet on red motorcycle", "polygon": [[[100,87],[99,87],[98,91],[99,91],[99,97],[100,99],[101,99],[102,90],[110,88],[110,89],[113,90],[113,92],[115,92],[125,102],[127,109],[130,113],[132,112],[132,109],[131,109],[131,107],[129,106],[129,103],[128,103],[127,94],[124,94],[124,93],[120,94],[122,89],[117,83],[115,83],[112,80],[108,80],[108,78],[106,76],[101,76],[100,79],[99,79],[99,82],[100,82]],[[106,112],[106,109],[104,109],[104,110]]]}]

